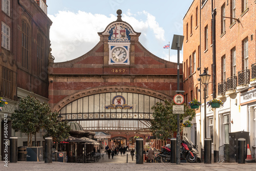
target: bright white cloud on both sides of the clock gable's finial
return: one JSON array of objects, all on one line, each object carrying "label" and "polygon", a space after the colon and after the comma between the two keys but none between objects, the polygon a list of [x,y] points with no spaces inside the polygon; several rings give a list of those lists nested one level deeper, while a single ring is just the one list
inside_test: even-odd
[{"label": "bright white cloud on both sides of the clock gable's finial", "polygon": [[[106,26],[116,20],[114,15],[108,17],[83,11],[59,11],[48,16],[53,22],[50,40],[55,62],[71,60],[90,51],[99,41],[97,33],[104,31]],[[144,19],[138,20],[134,16]],[[165,41],[163,28],[157,23],[155,16],[146,11],[132,14],[129,10],[122,14],[122,20],[129,23],[136,32],[143,33],[139,40],[145,47],[152,38]],[[151,35],[150,32],[154,36],[147,37],[146,35]]]}]

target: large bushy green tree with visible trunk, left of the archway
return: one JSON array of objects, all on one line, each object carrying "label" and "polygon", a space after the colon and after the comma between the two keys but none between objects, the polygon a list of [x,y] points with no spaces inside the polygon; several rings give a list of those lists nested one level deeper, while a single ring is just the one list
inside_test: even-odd
[{"label": "large bushy green tree with visible trunk, left of the archway", "polygon": [[[45,128],[47,132],[52,132],[52,127],[63,131],[61,126],[57,126],[56,113],[51,111],[50,106],[45,102],[41,103],[30,95],[20,100],[19,109],[14,111],[11,119],[12,128],[15,132],[20,131],[28,135],[28,146],[32,146],[33,135],[42,128]],[[66,126],[64,123],[59,125]],[[63,132],[63,135],[66,137],[67,132]]]}]

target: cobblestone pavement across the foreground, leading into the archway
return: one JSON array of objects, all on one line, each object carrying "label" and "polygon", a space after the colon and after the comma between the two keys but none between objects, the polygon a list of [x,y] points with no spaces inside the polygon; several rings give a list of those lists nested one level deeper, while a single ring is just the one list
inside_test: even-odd
[{"label": "cobblestone pavement across the foreground, leading into the archway", "polygon": [[104,160],[100,159],[96,163],[61,163],[61,162],[52,162],[45,163],[43,162],[28,162],[28,161],[18,161],[17,163],[8,162],[8,167],[5,167],[5,163],[2,161],[0,164],[0,170],[12,170],[12,171],[35,171],[35,170],[61,170],[61,171],[70,171],[70,170],[90,170],[90,171],[108,171],[108,170],[256,170],[256,163],[181,163],[177,165],[175,163],[143,163],[136,164],[136,159],[132,161],[130,153],[128,154],[128,162],[126,163],[126,154],[125,156],[114,156],[108,157],[105,155]]}]

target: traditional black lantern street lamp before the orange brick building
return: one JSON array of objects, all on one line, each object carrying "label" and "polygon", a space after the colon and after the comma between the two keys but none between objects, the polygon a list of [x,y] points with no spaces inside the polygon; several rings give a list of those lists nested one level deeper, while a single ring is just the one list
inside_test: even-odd
[{"label": "traditional black lantern street lamp before the orange brick building", "polygon": [[210,75],[207,74],[206,69],[204,68],[203,74],[200,74],[199,76],[204,85],[204,138],[206,138],[206,88],[209,83]]}]

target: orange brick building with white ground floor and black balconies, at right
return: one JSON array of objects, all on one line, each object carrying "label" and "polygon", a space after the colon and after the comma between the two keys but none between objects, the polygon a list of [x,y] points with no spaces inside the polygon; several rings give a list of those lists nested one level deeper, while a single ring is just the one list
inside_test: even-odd
[{"label": "orange brick building with white ground floor and black balconies, at right", "polygon": [[[215,12],[215,33],[212,32],[212,9]],[[252,148],[256,144],[256,99],[253,95],[256,62],[255,13],[256,3],[253,0],[193,1],[183,19],[183,83],[187,102],[193,98],[204,100],[203,88],[198,84],[199,74],[203,73],[204,68],[211,75],[210,82],[214,81],[212,75],[216,74],[216,95],[224,102],[222,108],[207,109],[206,118],[205,104],[201,111],[196,110],[198,115],[190,130],[191,140],[197,141],[195,143],[198,145],[203,144],[203,123],[206,119],[206,136],[212,138],[212,148],[217,154],[219,147],[222,148],[224,144],[232,145],[229,133],[241,131],[250,135],[246,143],[250,144],[252,154],[255,154],[255,148]],[[213,73],[212,60],[214,35],[216,73]],[[213,85],[209,83],[206,101],[212,99],[212,93]],[[233,160],[231,158],[230,161]]]}]

